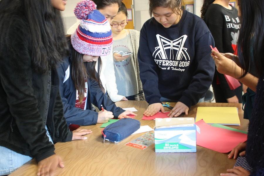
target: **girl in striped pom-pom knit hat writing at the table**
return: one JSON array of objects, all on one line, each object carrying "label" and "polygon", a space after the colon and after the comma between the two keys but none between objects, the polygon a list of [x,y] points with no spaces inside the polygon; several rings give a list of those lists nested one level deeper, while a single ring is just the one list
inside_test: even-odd
[{"label": "girl in striped pom-pom knit hat writing at the table", "polygon": [[[104,94],[99,80],[101,56],[111,54],[112,32],[107,19],[96,9],[93,1],[77,4],[74,13],[80,19],[76,31],[68,37],[70,55],[57,68],[60,94],[67,124],[79,126],[106,123],[117,117],[130,118]],[[95,62],[98,72],[95,71]],[[104,111],[92,111],[92,104]],[[71,126],[70,126],[71,127]]]}]

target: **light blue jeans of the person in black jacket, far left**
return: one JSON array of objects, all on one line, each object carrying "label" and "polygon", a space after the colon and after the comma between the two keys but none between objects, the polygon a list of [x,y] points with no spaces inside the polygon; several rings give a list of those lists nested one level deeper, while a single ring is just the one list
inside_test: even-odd
[{"label": "light blue jeans of the person in black jacket, far left", "polygon": [[[46,126],[46,130],[47,129]],[[49,137],[50,142],[53,143],[48,130],[47,136]],[[22,155],[6,147],[0,146],[0,175],[9,175],[31,159],[30,156]]]}]

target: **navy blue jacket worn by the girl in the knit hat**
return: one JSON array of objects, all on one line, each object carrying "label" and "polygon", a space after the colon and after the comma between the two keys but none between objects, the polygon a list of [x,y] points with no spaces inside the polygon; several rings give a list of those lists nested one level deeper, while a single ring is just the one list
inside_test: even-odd
[{"label": "navy blue jacket worn by the girl in the knit hat", "polygon": [[88,78],[88,91],[87,91],[87,106],[85,110],[75,107],[76,102],[76,89],[71,77],[71,61],[70,57],[65,57],[63,62],[58,66],[57,72],[60,79],[60,94],[63,103],[64,117],[67,125],[78,124],[81,126],[95,125],[98,119],[98,113],[92,111],[92,104],[101,109],[101,104],[107,111],[113,112],[115,117],[118,117],[125,110],[111,101],[100,88],[97,81]]}]

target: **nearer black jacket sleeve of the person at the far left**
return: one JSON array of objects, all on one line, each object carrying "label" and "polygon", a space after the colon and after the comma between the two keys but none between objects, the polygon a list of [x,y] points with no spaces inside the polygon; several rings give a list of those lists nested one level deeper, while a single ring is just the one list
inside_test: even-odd
[{"label": "nearer black jacket sleeve of the person at the far left", "polygon": [[[21,20],[10,21],[6,34],[9,44],[1,43],[0,78],[6,93],[9,111],[37,161],[54,154],[43,118],[38,111],[38,100],[33,90],[32,60],[29,54],[29,29]],[[2,36],[4,36],[2,35]]]}]

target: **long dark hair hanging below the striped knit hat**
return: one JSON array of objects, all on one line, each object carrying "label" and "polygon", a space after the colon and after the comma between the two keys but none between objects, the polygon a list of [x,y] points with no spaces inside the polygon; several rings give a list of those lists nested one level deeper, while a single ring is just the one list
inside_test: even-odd
[{"label": "long dark hair hanging below the striped knit hat", "polygon": [[75,85],[75,89],[79,93],[79,101],[82,102],[85,93],[85,82],[88,78],[96,80],[101,87],[100,72],[101,72],[101,57],[98,58],[97,72],[95,70],[96,62],[83,62],[83,54],[77,52],[71,44],[71,35],[67,35],[67,43],[71,51],[72,70],[71,76]]}]

